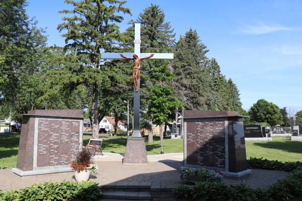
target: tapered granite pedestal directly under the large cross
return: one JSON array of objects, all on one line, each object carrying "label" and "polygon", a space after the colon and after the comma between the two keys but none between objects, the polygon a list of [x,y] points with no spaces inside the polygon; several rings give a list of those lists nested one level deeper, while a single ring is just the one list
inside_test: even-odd
[{"label": "tapered granite pedestal directly under the large cross", "polygon": [[147,165],[147,151],[144,138],[127,139],[127,147],[123,164]]}]

